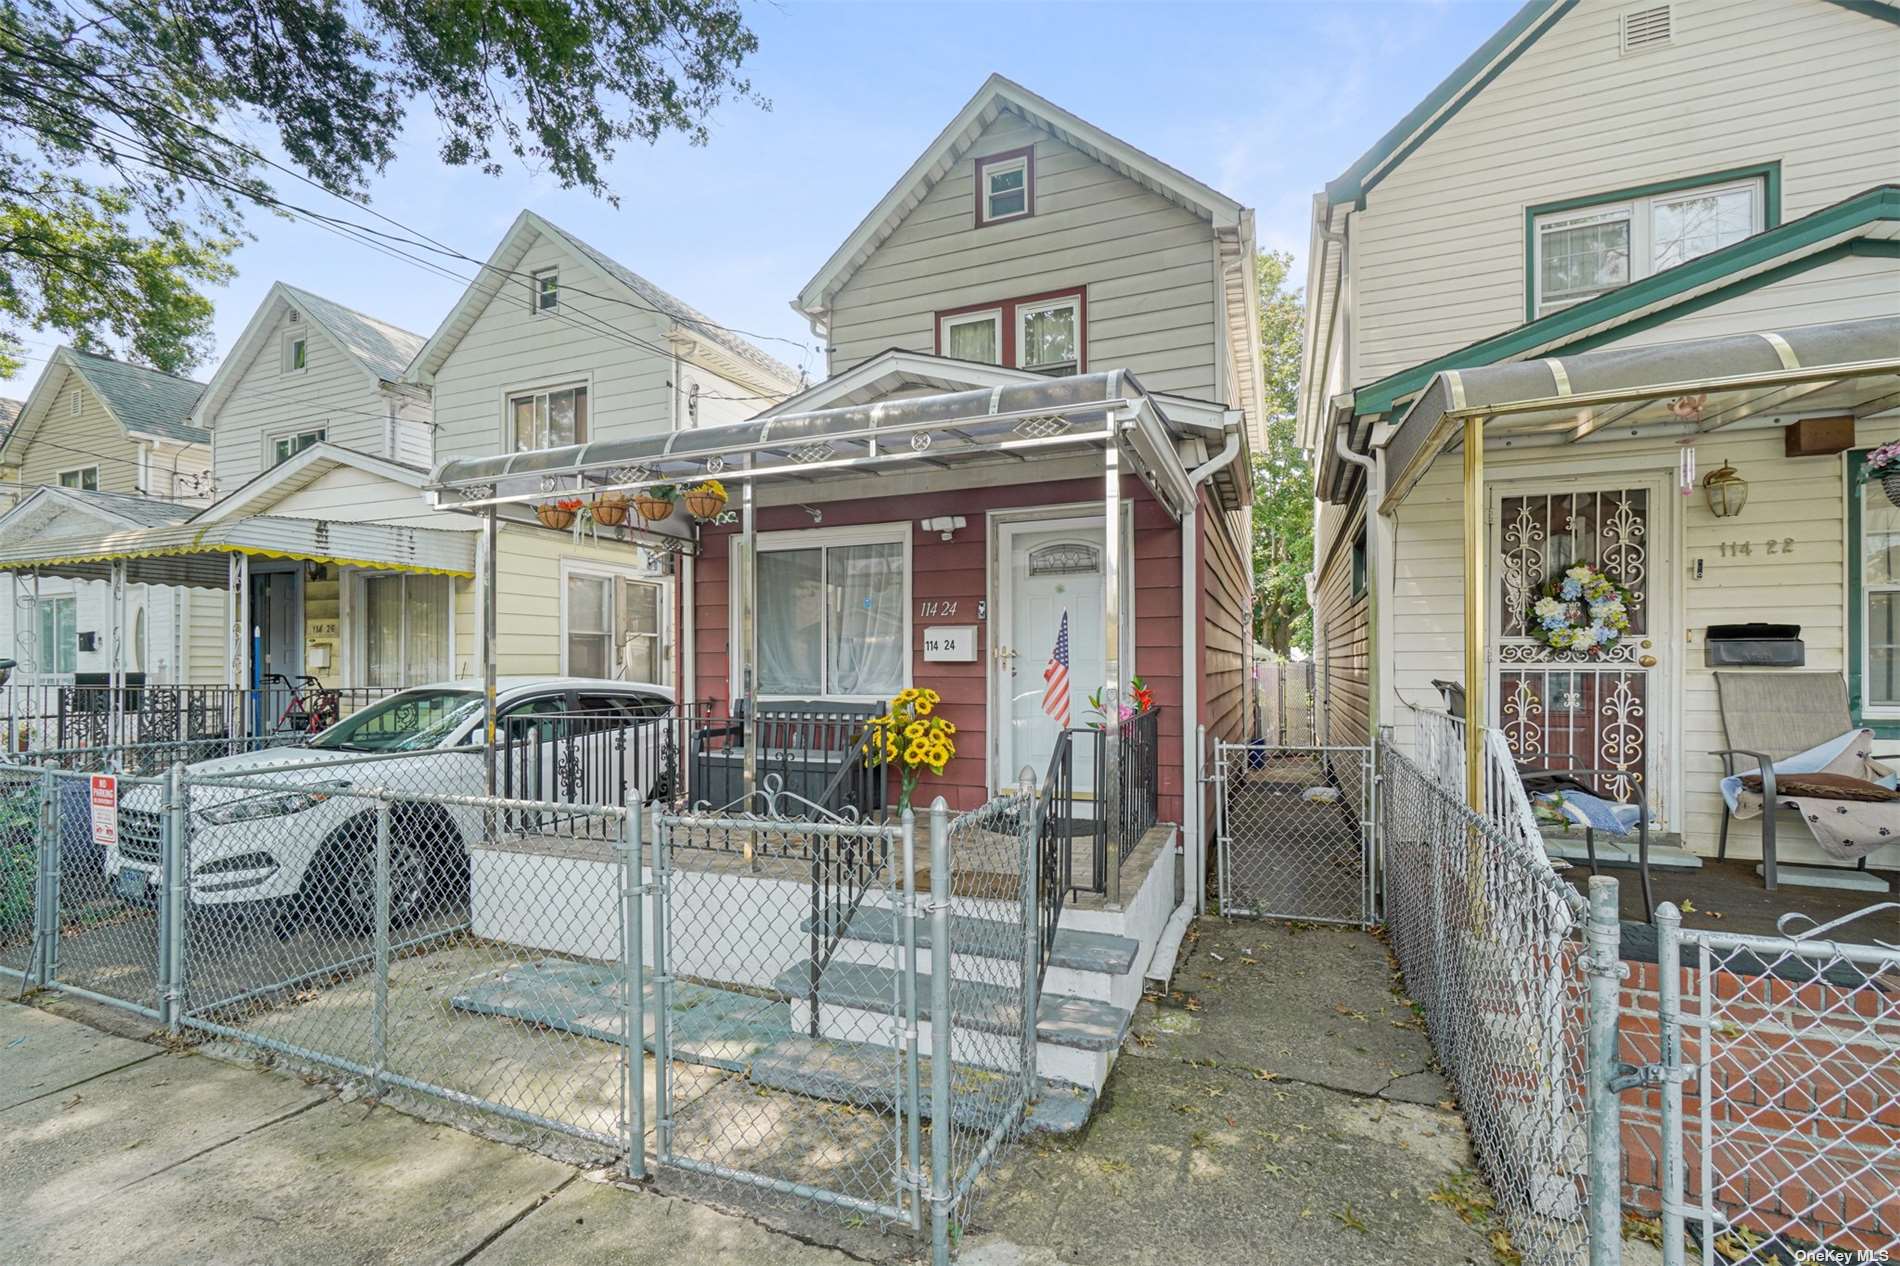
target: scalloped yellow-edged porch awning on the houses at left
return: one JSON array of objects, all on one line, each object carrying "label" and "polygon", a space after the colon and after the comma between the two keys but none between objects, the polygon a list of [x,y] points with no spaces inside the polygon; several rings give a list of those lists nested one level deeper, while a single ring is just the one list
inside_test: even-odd
[{"label": "scalloped yellow-edged porch awning on the houses at left", "polygon": [[106,576],[112,563],[131,563],[137,584],[230,584],[228,555],[298,559],[435,576],[475,574],[475,532],[258,515],[230,523],[177,523],[108,532],[84,544],[23,542],[0,549],[0,572],[40,570],[53,576]]}]

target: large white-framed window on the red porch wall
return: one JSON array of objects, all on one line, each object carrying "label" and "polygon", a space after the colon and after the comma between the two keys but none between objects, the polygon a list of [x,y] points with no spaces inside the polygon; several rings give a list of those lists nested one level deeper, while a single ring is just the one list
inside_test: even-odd
[{"label": "large white-framed window on the red porch wall", "polygon": [[885,700],[904,688],[908,540],[908,523],[760,538],[760,694]]}]

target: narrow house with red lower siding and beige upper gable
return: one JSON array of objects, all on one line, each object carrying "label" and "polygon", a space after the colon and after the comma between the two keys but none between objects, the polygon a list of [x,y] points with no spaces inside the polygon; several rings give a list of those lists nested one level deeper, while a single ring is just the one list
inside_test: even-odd
[{"label": "narrow house with red lower siding and beige upper gable", "polygon": [[[1074,827],[1043,892],[1125,947],[1077,1002],[1119,1032],[1201,899],[1199,747],[1252,732],[1252,260],[1246,207],[992,76],[800,291],[823,382],[745,420],[450,458],[437,504],[524,525],[720,485],[636,528],[690,595],[690,798],[887,808],[863,726],[935,690],[956,755],[918,795],[1028,779]],[[1112,1045],[1047,1066],[1098,1085]]]}]

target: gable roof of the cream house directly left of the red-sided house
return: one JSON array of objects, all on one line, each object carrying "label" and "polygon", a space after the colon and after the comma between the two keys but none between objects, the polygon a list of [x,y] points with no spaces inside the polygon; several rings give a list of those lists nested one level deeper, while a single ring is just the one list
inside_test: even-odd
[{"label": "gable roof of the cream house directly left of the red-sided house", "polygon": [[[726,329],[686,300],[676,295],[669,295],[604,251],[587,245],[568,230],[542,219],[534,211],[522,211],[515,217],[515,222],[502,236],[502,241],[481,266],[481,272],[475,274],[475,279],[469,281],[462,298],[456,300],[456,306],[448,310],[448,316],[443,317],[437,331],[429,336],[422,350],[416,352],[408,371],[403,374],[405,382],[414,382],[418,386],[429,384],[435,371],[443,367],[448,354],[456,350],[458,342],[462,342],[462,336],[467,333],[469,325],[473,325],[475,317],[488,306],[502,285],[515,276],[522,255],[526,255],[528,245],[538,236],[553,238],[587,262],[595,264],[608,278],[608,281],[625,293],[631,306],[656,312],[673,321],[674,327],[703,338],[716,354],[714,359],[722,361],[726,371],[737,373],[750,386],[760,386],[773,393],[788,392],[796,386],[796,369],[768,355],[758,346]],[[654,352],[663,355],[673,354],[671,348],[657,346]]]}]

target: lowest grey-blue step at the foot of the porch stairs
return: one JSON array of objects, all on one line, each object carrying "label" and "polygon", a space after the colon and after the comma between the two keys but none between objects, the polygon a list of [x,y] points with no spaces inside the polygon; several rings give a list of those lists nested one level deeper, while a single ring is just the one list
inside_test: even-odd
[{"label": "lowest grey-blue step at the foot of the porch stairs", "polygon": [[[897,1076],[891,1047],[872,1042],[844,1042],[838,1038],[808,1038],[796,1034],[779,1038],[754,1057],[745,1078],[768,1089],[895,1110]],[[967,1129],[984,1129],[999,1120],[1009,1106],[1013,1078],[956,1065],[950,1074],[956,1087],[952,1118]],[[922,1087],[918,1114],[931,1120],[931,1057],[918,1059]],[[1066,1135],[1083,1127],[1094,1108],[1094,1091],[1083,1085],[1045,1080],[1041,1097],[1030,1104],[1026,1125],[1037,1133]]]}]

